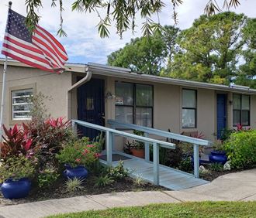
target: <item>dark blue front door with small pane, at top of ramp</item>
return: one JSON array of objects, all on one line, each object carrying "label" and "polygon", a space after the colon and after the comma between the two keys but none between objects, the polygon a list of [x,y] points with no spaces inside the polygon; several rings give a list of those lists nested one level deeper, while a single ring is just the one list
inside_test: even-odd
[{"label": "dark blue front door with small pane, at top of ramp", "polygon": [[[78,120],[105,125],[104,85],[104,80],[91,79],[81,87],[78,87]],[[99,131],[91,128],[82,128],[79,125],[78,131],[80,131],[81,135],[91,139],[99,135]]]}]

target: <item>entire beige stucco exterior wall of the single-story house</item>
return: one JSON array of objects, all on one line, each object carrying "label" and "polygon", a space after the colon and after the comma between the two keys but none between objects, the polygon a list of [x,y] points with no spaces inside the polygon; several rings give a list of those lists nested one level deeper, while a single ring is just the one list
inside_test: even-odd
[{"label": "entire beige stucco exterior wall of the single-story house", "polygon": [[[3,66],[0,65],[2,72]],[[70,104],[67,104],[67,89],[77,81],[77,76],[84,77],[84,73],[47,73],[41,70],[9,66],[7,73],[6,94],[5,94],[5,115],[4,123],[9,124],[11,119],[10,88],[31,84],[39,91],[51,96],[52,100],[46,102],[47,109],[52,117],[77,118],[77,91],[73,90],[70,95]],[[137,80],[126,80],[115,77],[99,77],[105,80],[105,94],[115,94],[115,81],[121,80],[132,83],[145,83],[154,86],[154,128],[181,133],[182,131],[202,131],[206,139],[216,138],[216,94],[223,93],[216,90],[197,89],[197,128],[182,128],[182,88],[164,83],[147,83]],[[0,80],[2,80],[2,73]],[[0,85],[2,90],[2,83]],[[227,93],[227,124],[232,128],[232,94]],[[1,97],[1,96],[0,96]],[[115,119],[115,98],[105,98],[106,121]],[[68,111],[70,113],[68,114]],[[256,128],[256,96],[251,96],[251,128]],[[123,139],[120,139],[121,142]],[[123,142],[122,142],[123,143]],[[119,144],[122,144],[119,143]]]}]

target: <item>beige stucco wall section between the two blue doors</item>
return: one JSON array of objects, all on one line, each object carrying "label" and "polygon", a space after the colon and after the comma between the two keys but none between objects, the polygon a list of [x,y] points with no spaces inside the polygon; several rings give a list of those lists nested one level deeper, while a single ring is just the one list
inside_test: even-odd
[{"label": "beige stucco wall section between the two blue doors", "polygon": [[[115,81],[109,77],[106,80],[106,90],[115,94]],[[122,80],[137,83],[136,80]],[[143,82],[140,82],[143,83]],[[206,139],[214,140],[216,98],[215,90],[197,90],[197,128],[182,128],[182,88],[170,84],[147,83],[154,85],[154,128],[182,133],[202,131]],[[115,118],[115,99],[106,100],[106,120]]]}]

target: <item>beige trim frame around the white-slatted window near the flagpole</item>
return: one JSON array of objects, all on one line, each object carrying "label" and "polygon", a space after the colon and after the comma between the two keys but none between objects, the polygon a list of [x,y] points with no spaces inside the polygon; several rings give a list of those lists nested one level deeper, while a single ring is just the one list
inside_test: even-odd
[{"label": "beige trim frame around the white-slatted window near the flagpole", "polygon": [[12,92],[19,90],[32,90],[33,95],[36,94],[36,83],[17,86],[17,87],[9,87],[9,122],[10,124],[22,124],[24,121],[30,121],[31,118],[14,118],[13,117],[13,103],[12,103]]}]

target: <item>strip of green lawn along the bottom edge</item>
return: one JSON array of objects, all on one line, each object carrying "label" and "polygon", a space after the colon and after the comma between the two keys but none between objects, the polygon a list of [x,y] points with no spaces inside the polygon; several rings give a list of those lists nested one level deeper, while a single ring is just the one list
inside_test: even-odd
[{"label": "strip of green lawn along the bottom edge", "polygon": [[53,218],[78,217],[256,217],[256,202],[164,203],[66,213]]}]

